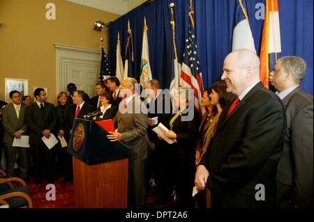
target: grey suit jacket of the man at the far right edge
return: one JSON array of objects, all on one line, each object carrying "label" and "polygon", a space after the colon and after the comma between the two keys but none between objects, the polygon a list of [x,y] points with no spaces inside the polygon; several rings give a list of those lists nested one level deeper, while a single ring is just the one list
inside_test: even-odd
[{"label": "grey suit jacket of the man at the far right edge", "polygon": [[287,129],[277,181],[288,188],[278,197],[285,203],[292,200],[293,205],[313,207],[313,95],[296,88],[283,99],[283,106]]}]

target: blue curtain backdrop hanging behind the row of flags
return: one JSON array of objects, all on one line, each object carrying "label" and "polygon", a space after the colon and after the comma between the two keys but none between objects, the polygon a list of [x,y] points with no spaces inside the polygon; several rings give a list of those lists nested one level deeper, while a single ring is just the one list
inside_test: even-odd
[{"label": "blue curtain backdrop hanging behind the row of flags", "polygon": [[[151,72],[163,88],[170,85],[172,65],[169,3],[174,2],[176,24],[176,42],[179,62],[182,62],[184,39],[188,29],[189,0],[155,0],[141,6],[110,22],[109,28],[109,63],[112,73],[116,68],[117,33],[120,32],[121,54],[125,58],[128,20],[133,32],[134,73],[140,78],[140,58],[142,52],[142,32],[144,16],[147,18],[149,57]],[[248,17],[255,41],[255,48],[260,54],[263,19],[256,19],[258,3],[264,0],[246,0]],[[193,0],[195,11],[195,31],[197,49],[202,65],[204,88],[211,86],[223,72],[223,61],[232,47],[232,31],[235,26],[236,0]],[[282,56],[301,56],[308,68],[301,88],[313,95],[313,0],[278,0],[281,25]]]}]

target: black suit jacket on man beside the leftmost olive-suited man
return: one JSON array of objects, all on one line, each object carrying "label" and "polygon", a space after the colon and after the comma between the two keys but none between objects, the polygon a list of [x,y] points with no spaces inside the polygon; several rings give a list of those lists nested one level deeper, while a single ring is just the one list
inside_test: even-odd
[{"label": "black suit jacket on man beside the leftmost olive-suited man", "polygon": [[29,129],[30,144],[39,144],[45,129],[49,129],[52,134],[56,130],[57,114],[54,105],[45,102],[44,107],[44,111],[40,111],[36,102],[27,106],[25,120]]}]

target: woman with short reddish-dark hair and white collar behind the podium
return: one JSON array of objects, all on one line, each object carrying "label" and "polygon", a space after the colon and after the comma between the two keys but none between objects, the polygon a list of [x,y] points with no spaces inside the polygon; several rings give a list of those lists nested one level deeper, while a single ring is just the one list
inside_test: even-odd
[{"label": "woman with short reddish-dark hair and white collar behind the podium", "polygon": [[105,91],[103,95],[100,95],[100,101],[102,106],[100,106],[97,111],[101,111],[103,115],[96,116],[94,120],[109,120],[114,118],[118,111],[118,107],[112,106],[114,101],[112,98],[112,93]]}]

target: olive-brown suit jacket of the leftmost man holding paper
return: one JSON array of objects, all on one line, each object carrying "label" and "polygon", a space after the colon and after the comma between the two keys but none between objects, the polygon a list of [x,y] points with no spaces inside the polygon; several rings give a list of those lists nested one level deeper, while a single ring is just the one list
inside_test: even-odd
[{"label": "olive-brown suit jacket of the leftmost man holding paper", "polygon": [[[3,135],[3,143],[13,143],[14,134],[17,130],[22,129],[27,132],[27,125],[25,122],[26,106],[21,104],[20,115],[17,118],[14,105],[12,103],[6,105],[2,110],[2,125],[5,129]],[[23,133],[24,134],[24,133]]]}]

